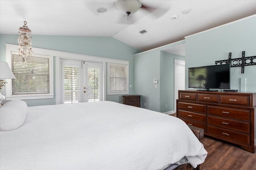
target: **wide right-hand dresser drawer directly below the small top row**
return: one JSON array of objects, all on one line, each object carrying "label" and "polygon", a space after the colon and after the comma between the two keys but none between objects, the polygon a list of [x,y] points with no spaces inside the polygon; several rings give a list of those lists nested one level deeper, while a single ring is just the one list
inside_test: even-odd
[{"label": "wide right-hand dresser drawer directly below the small top row", "polygon": [[228,107],[208,106],[207,114],[245,121],[251,120],[251,111],[246,109],[232,109]]}]

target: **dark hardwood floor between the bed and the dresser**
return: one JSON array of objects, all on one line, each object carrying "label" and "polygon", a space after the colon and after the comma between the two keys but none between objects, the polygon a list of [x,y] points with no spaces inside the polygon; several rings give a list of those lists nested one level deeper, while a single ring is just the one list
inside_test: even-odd
[{"label": "dark hardwood floor between the bed and the dresser", "polygon": [[[256,170],[256,150],[253,154],[238,145],[207,136],[202,137],[200,142],[208,152],[200,170]],[[176,170],[192,169],[190,164],[184,164]]]}]

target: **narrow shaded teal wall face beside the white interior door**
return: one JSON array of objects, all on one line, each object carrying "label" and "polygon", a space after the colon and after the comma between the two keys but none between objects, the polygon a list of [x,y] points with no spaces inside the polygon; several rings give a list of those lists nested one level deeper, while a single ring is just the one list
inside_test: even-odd
[{"label": "narrow shaded teal wall face beside the white interior door", "polygon": [[174,110],[174,59],[185,60],[185,57],[160,51],[160,112],[162,113]]}]

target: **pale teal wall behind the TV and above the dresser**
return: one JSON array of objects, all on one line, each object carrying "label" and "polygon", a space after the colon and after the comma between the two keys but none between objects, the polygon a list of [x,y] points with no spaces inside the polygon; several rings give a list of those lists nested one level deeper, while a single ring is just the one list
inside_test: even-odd
[{"label": "pale teal wall behind the TV and above the dresser", "polygon": [[[194,66],[214,65],[215,61],[232,58],[256,56],[256,16],[246,18],[222,27],[217,27],[190,37],[186,37],[186,89],[188,89],[188,68]],[[230,72],[230,89],[240,90],[246,86],[246,92],[256,92],[256,65],[232,67]],[[246,78],[246,84],[240,84],[240,78]]]}]

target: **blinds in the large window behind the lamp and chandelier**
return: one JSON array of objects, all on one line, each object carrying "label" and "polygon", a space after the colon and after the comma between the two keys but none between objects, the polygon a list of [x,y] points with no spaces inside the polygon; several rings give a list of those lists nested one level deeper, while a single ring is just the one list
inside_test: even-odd
[{"label": "blinds in the large window behind the lamp and chandelier", "polygon": [[23,58],[12,54],[12,96],[36,96],[50,94],[50,59],[32,56],[27,67],[22,67]]}]

